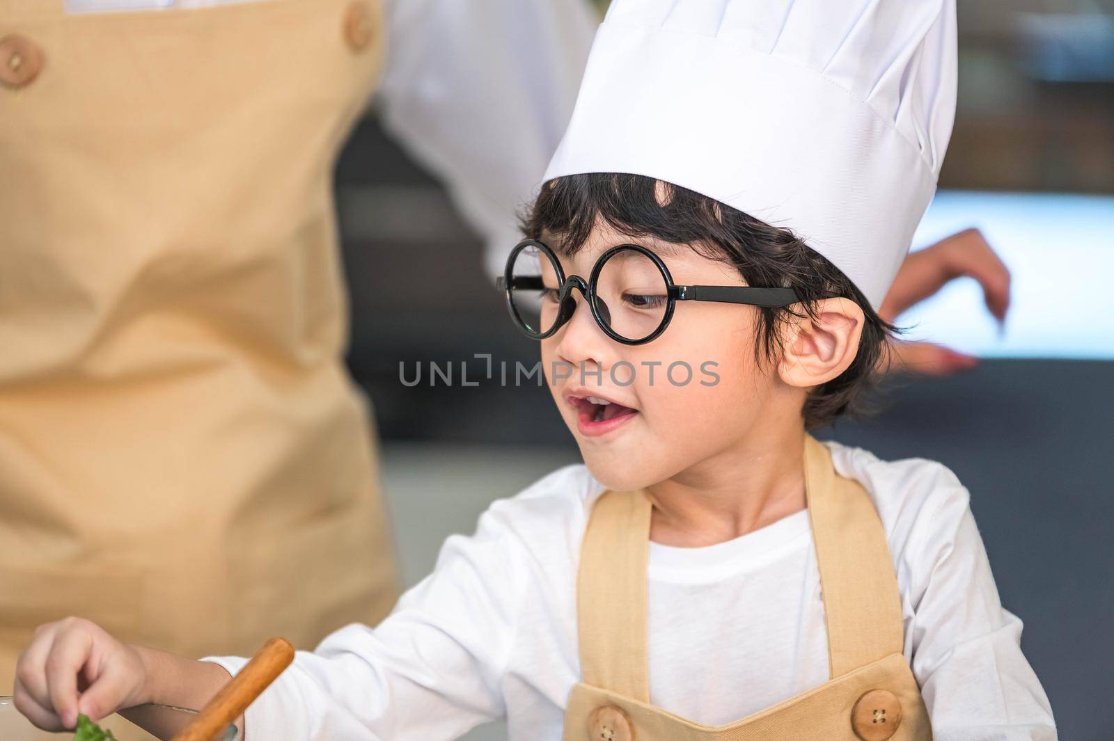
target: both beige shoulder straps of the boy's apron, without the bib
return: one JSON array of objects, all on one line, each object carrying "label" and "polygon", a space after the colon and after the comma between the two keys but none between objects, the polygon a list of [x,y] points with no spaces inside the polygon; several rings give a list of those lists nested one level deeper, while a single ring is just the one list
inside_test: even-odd
[{"label": "both beige shoulder straps of the boy's apron, without the bib", "polygon": [[[873,502],[861,484],[836,474],[831,451],[808,433],[804,481],[836,678],[901,653],[901,602]],[[582,680],[644,703],[652,512],[642,490],[604,492],[588,518],[577,571]]]}]

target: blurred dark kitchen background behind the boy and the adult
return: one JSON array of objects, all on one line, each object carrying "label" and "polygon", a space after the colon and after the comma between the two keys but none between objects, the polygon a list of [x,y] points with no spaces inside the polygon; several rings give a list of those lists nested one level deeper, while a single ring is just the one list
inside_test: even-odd
[{"label": "blurred dark kitchen background behind the boy and the adult", "polygon": [[[979,367],[896,377],[879,415],[818,436],[959,476],[1061,738],[1110,739],[1114,0],[960,0],[959,31],[955,134],[913,248],[980,228],[1013,273],[1005,332],[973,279],[954,283],[898,324],[981,356]],[[374,109],[340,159],[336,191],[349,363],[374,403],[409,585],[448,534],[472,532],[491,500],[577,451],[544,387],[499,383],[501,363],[530,365],[537,346],[507,318],[479,238]],[[490,354],[494,379],[476,354]],[[451,386],[430,384],[430,363],[452,366]],[[412,379],[418,364],[421,383],[403,385],[400,368]],[[459,383],[462,365],[476,386]],[[501,738],[499,727],[469,737]]]}]

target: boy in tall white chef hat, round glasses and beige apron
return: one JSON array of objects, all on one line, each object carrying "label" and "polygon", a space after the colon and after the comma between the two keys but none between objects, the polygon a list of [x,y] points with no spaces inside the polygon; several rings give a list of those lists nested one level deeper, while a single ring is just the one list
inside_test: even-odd
[{"label": "boy in tall white chef hat, round glasses and beige apron", "polygon": [[[1054,739],[955,475],[808,433],[895,329],[954,105],[950,0],[615,2],[502,276],[586,465],[300,653],[247,740]],[[20,708],[197,704],[216,664],[65,621]]]}]

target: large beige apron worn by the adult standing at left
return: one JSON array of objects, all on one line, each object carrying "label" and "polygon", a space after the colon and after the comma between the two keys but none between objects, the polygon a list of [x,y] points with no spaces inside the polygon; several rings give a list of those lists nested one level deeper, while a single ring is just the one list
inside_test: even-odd
[{"label": "large beige apron worn by the adult standing at left", "polygon": [[332,169],[375,0],[0,0],[0,694],[35,625],[312,648],[397,597]]}]

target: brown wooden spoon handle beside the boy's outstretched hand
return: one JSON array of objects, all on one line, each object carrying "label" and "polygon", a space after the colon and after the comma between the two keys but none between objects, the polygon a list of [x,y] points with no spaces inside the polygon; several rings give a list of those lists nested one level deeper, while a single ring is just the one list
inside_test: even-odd
[{"label": "brown wooden spoon handle beside the boy's outstretched hand", "polygon": [[252,660],[208,701],[201,713],[173,741],[213,741],[247,710],[271,682],[294,661],[294,646],[275,638],[263,644]]}]

